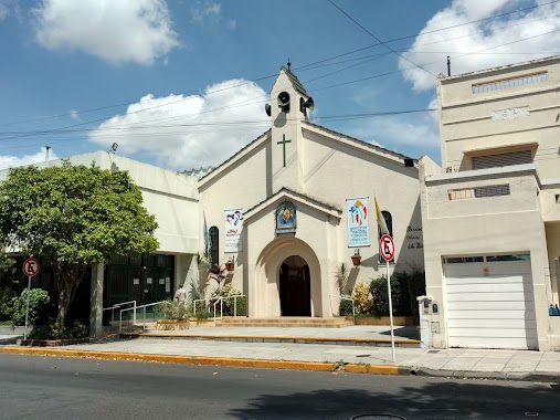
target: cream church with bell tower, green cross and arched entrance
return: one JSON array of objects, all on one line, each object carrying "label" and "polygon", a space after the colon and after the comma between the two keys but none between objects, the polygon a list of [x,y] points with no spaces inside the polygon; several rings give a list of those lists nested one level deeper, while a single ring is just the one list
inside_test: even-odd
[{"label": "cream church with bell tower, green cross and arched entrance", "polygon": [[198,183],[200,250],[234,263],[228,281],[247,296],[250,317],[332,317],[341,263],[350,287],[385,274],[376,198],[394,238],[390,270],[423,264],[415,161],[310,123],[313,105],[282,67],[266,106],[271,129]]}]

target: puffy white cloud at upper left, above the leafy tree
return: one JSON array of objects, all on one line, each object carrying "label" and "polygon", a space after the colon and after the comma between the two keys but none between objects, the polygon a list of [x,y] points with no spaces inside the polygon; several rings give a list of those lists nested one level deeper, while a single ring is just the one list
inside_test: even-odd
[{"label": "puffy white cloud at upper left, above the leafy tree", "polygon": [[110,63],[151,64],[179,45],[165,0],[43,0],[33,17],[39,44]]}]

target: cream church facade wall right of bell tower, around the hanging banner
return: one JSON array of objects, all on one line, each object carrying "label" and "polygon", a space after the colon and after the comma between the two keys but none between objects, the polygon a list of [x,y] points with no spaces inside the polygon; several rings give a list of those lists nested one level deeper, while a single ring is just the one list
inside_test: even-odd
[{"label": "cream church facade wall right of bell tower, around the hanging banner", "polygon": [[[335,141],[310,127],[304,134],[304,191],[344,210],[337,242],[335,266],[350,263],[355,249],[348,246],[348,213],[346,200],[369,198],[370,245],[360,246],[360,269],[352,283],[366,282],[385,274],[385,264],[379,263],[379,238],[374,213],[374,197],[381,210],[392,216],[397,265],[391,272],[410,271],[423,265],[422,220],[418,169],[405,168],[402,159],[390,154],[383,158],[358,141]],[[414,248],[412,248],[414,246]]]}]

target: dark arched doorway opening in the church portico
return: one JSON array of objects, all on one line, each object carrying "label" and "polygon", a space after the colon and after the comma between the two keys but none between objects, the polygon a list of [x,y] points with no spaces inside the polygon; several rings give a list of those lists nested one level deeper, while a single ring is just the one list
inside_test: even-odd
[{"label": "dark arched doorway opening in the church portico", "polygon": [[282,316],[311,316],[309,265],[298,255],[288,256],[279,267]]}]

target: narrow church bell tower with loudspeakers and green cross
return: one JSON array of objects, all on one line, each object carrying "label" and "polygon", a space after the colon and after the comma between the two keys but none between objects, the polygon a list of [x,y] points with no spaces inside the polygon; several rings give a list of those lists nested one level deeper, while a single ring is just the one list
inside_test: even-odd
[{"label": "narrow church bell tower with loudspeakers and green cross", "polygon": [[272,86],[271,104],[265,105],[272,119],[273,192],[283,187],[304,192],[302,123],[309,119],[314,102],[290,66],[288,60],[287,67],[281,67]]}]

